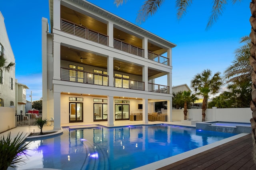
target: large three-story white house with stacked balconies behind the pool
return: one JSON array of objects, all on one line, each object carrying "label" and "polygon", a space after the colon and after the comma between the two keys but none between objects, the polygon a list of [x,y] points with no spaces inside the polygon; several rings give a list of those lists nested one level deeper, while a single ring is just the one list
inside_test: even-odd
[{"label": "large three-story white house with stacked balconies behind the pool", "polygon": [[[176,45],[85,0],[49,0],[42,18],[43,117],[72,122],[129,120],[167,101],[172,115]],[[165,57],[164,57],[165,56]],[[167,75],[165,84],[155,78]]]}]

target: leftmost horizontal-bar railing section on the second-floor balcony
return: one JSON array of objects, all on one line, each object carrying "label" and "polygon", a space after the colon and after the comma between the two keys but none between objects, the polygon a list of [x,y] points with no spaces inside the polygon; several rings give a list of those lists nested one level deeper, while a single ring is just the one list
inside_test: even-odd
[{"label": "leftmost horizontal-bar railing section on the second-floor balcony", "polygon": [[60,68],[60,69],[61,69],[61,74],[60,74],[61,80],[108,86],[108,76],[105,74],[85,72],[82,70],[75,70],[72,68]]}]

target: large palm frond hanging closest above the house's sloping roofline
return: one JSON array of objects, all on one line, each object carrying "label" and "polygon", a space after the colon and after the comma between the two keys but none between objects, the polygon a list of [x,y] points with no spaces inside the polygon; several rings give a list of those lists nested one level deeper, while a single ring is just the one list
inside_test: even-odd
[{"label": "large palm frond hanging closest above the house's sloping roofline", "polygon": [[164,0],[146,0],[140,7],[136,22],[141,24],[142,22],[146,21],[149,16],[152,16],[157,12],[158,8],[163,2]]}]

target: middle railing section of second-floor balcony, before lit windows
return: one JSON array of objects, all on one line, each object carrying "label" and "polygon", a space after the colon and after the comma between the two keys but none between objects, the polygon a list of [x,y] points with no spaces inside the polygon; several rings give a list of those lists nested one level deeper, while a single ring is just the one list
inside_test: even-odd
[{"label": "middle railing section of second-floor balcony, before lit windows", "polygon": [[144,82],[130,80],[121,77],[114,77],[114,87],[144,90]]}]

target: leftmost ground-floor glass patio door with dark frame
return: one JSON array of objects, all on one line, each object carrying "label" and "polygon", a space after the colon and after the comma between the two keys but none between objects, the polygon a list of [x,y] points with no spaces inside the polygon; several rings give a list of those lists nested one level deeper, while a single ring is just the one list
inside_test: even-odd
[{"label": "leftmost ground-floor glass patio door with dark frame", "polygon": [[69,103],[69,122],[83,122],[83,103]]}]

